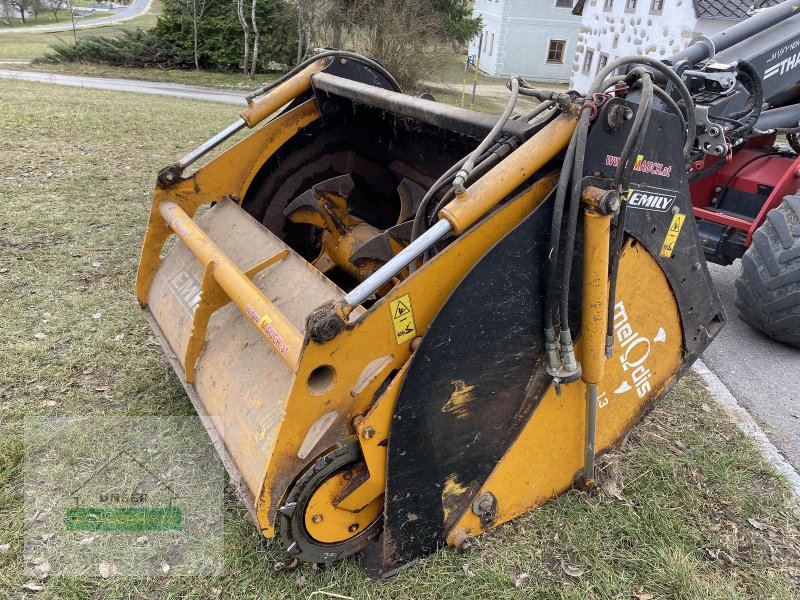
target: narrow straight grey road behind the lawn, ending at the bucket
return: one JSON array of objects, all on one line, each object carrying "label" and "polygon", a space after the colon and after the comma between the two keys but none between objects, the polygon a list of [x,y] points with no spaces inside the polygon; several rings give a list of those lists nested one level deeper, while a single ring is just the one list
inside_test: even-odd
[{"label": "narrow straight grey road behind the lawn, ending at the bucket", "polygon": [[[217,90],[200,85],[184,85],[180,83],[158,83],[154,81],[138,81],[136,79],[106,79],[100,77],[81,77],[77,75],[57,75],[54,73],[36,73],[33,71],[10,71],[0,69],[0,79],[19,79],[23,81],[40,81],[57,83],[73,87],[87,87],[115,92],[134,92],[137,94],[153,94],[158,96],[174,96],[190,100],[206,100],[246,106],[244,99],[247,91],[235,92]],[[255,87],[255,84],[254,84]],[[248,90],[249,91],[249,90]]]}]

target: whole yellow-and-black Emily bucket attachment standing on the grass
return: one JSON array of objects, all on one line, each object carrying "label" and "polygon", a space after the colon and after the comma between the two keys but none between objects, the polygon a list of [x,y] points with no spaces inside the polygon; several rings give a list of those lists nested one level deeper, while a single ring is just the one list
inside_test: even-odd
[{"label": "whole yellow-and-black Emily bucket attachment standing on the grass", "polygon": [[[512,99],[527,93],[510,85]],[[329,51],[260,90],[240,121],[162,171],[137,277],[260,531],[298,560],[360,552],[376,577],[568,489],[721,318],[688,221],[670,256],[672,213],[611,225],[619,207],[605,200],[620,195],[605,156],[624,155],[631,123],[590,128],[584,111],[579,125],[573,95],[524,118],[512,101],[498,120],[395,87],[376,63]],[[614,106],[641,110],[614,98],[596,119]],[[679,126],[653,109],[643,127]],[[681,160],[648,139],[642,153]],[[572,176],[577,204],[564,210]],[[655,183],[685,214],[683,173]],[[582,270],[553,253],[562,235]],[[560,293],[580,298],[550,303],[582,315],[569,325],[547,313],[553,261]],[[575,340],[583,381],[548,374],[546,313]]]}]

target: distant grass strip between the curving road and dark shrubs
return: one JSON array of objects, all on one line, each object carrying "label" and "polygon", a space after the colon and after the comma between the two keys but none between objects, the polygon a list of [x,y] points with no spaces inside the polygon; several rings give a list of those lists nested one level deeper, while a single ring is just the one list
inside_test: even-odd
[{"label": "distant grass strip between the curving road and dark shrubs", "polygon": [[[123,29],[136,29],[137,27],[147,29],[156,24],[159,14],[161,14],[161,2],[153,0],[150,10],[139,17],[117,24],[84,27],[78,29],[77,34],[79,38],[87,35],[108,37],[117,35]],[[97,16],[91,18],[97,18]],[[33,60],[44,56],[51,44],[59,40],[70,41],[73,39],[71,29],[50,33],[42,31],[15,32],[8,28],[3,29],[4,31],[0,32],[0,61]]]}]

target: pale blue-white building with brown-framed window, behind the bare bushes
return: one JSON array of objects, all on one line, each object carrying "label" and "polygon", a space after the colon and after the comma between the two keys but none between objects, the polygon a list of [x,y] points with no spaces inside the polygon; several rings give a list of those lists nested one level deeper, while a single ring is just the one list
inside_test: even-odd
[{"label": "pale blue-white building with brown-framed window, behind the bare bushes", "polygon": [[[475,0],[473,14],[483,18],[481,71],[567,83],[581,23],[574,1]],[[469,53],[477,55],[478,38]]]}]

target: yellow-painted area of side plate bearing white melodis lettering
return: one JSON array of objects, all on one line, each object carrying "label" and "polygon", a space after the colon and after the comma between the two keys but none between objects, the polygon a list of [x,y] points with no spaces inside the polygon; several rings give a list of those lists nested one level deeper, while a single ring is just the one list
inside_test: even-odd
[{"label": "yellow-painted area of side plate bearing white melodis lettering", "polygon": [[[614,355],[606,363],[599,385],[598,453],[617,444],[646,414],[676,375],[682,359],[680,313],[658,263],[643,246],[630,242],[621,261]],[[658,310],[653,310],[653,299],[657,299]],[[656,337],[663,341],[655,341]],[[578,340],[575,348],[583,359],[581,342]],[[642,360],[645,350],[647,356]],[[497,499],[493,525],[509,521],[568,490],[582,469],[586,384],[562,384],[561,390],[561,396],[557,396],[552,386],[548,389],[476,493],[491,492]],[[456,543],[454,532],[459,529],[467,535],[485,530],[469,509],[449,530],[448,543]]]}]

